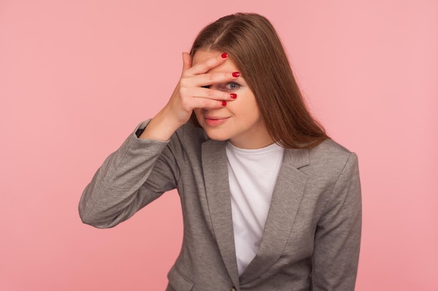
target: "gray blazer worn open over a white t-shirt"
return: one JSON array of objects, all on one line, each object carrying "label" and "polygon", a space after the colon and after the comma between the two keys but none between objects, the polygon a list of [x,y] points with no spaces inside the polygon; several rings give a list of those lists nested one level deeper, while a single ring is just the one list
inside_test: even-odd
[{"label": "gray blazer worn open over a white t-shirt", "polygon": [[85,188],[80,217],[113,227],[177,188],[183,246],[167,291],[354,290],[361,228],[357,156],[332,140],[285,149],[260,249],[239,276],[225,144],[190,123],[168,142],[132,133]]}]

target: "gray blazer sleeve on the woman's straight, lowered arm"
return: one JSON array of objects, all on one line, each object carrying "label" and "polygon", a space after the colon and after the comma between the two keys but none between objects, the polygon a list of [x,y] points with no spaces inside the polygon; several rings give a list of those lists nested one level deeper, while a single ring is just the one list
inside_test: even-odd
[{"label": "gray blazer sleeve on the woman's straight, lowered arm", "polygon": [[354,290],[361,225],[358,157],[351,153],[316,229],[313,291]]}]

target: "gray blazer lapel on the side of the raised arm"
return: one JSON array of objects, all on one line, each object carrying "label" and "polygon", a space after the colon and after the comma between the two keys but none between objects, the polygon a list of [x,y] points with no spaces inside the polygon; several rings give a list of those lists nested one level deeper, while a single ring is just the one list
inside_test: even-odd
[{"label": "gray blazer lapel on the side of the raised arm", "polygon": [[202,144],[202,171],[219,251],[234,285],[239,286],[225,146],[226,142],[216,140],[208,140]]}]

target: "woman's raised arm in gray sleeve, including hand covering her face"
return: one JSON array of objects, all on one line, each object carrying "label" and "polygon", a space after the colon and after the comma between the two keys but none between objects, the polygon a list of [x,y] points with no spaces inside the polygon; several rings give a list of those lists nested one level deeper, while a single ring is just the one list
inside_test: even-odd
[{"label": "woman's raised arm in gray sleeve, including hand covering her face", "polygon": [[226,54],[192,66],[190,54],[183,53],[183,73],[169,102],[148,123],[139,137],[134,133],[122,147],[106,158],[85,188],[79,203],[84,223],[113,227],[134,215],[164,191],[176,187],[178,167],[174,153],[181,150],[175,131],[183,126],[195,108],[217,109],[227,92],[204,88],[236,77],[229,73],[209,73],[223,64]]}]

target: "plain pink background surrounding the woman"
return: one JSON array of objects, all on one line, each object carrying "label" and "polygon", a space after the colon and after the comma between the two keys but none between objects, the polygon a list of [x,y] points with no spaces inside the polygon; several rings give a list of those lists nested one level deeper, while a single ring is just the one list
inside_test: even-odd
[{"label": "plain pink background surrounding the woman", "polygon": [[273,22],[311,110],[358,153],[356,290],[438,290],[438,2],[150,2],[0,0],[0,290],[164,290],[176,193],[109,230],[78,200],[199,29],[237,11]]}]

